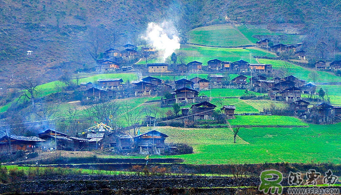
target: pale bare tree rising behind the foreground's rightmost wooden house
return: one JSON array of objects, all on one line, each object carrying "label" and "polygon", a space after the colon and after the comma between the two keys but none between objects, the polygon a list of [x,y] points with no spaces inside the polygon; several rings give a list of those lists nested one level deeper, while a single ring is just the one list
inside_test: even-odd
[{"label": "pale bare tree rising behind the foreground's rightmost wooden house", "polygon": [[133,127],[133,133],[134,136],[136,136],[142,120],[141,111],[125,101],[122,103],[121,112],[122,118],[125,120],[128,127]]}]

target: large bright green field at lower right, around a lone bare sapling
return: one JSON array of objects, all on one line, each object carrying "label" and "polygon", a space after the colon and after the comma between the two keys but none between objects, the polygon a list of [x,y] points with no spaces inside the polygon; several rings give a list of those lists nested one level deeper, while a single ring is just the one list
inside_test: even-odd
[{"label": "large bright green field at lower right, around a lone bare sapling", "polygon": [[[273,117],[273,116],[270,116]],[[274,118],[275,119],[275,118]],[[296,124],[295,120],[281,118]],[[255,121],[247,120],[249,124]],[[297,121],[300,124],[302,122]],[[247,124],[247,123],[246,123]],[[295,128],[241,128],[237,143],[228,128],[185,129],[157,127],[167,134],[168,142],[188,143],[195,154],[179,155],[185,163],[226,164],[265,162],[333,162],[339,164],[341,156],[341,123],[309,125]]]}]

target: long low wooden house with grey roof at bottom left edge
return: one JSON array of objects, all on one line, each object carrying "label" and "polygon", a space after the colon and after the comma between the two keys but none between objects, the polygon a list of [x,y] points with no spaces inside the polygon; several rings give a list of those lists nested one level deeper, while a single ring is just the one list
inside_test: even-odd
[{"label": "long low wooden house with grey roof at bottom left edge", "polygon": [[[24,152],[41,152],[44,139],[38,137],[3,136],[0,138],[0,154]],[[10,144],[11,145],[10,145]]]}]

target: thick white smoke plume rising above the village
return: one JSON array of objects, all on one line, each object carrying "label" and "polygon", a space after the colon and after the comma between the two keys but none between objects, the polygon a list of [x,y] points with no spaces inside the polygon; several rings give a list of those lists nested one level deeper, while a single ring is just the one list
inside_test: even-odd
[{"label": "thick white smoke plume rising above the village", "polygon": [[141,38],[147,40],[156,50],[162,52],[164,61],[176,49],[180,49],[180,39],[175,35],[174,27],[170,22],[163,22],[160,25],[150,22],[146,36],[142,36]]}]

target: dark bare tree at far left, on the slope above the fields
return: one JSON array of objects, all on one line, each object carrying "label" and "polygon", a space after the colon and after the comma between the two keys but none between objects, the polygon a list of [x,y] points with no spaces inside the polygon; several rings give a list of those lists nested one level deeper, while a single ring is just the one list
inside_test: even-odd
[{"label": "dark bare tree at far left, on the slope above the fields", "polygon": [[19,88],[22,90],[22,94],[19,96],[19,100],[20,98],[27,98],[31,100],[32,106],[33,108],[35,108],[36,98],[38,95],[38,85],[39,82],[35,78],[24,78],[23,81],[19,84]]}]

